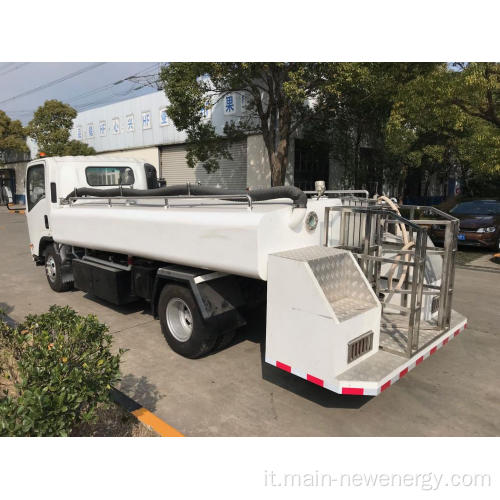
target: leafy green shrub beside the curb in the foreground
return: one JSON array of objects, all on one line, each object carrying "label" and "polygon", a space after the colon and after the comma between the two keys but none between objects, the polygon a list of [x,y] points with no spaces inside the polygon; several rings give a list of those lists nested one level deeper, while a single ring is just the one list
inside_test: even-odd
[{"label": "leafy green shrub beside the curb in the foreground", "polygon": [[123,351],[112,354],[111,335],[93,315],[52,306],[13,328],[0,322],[0,435],[67,436],[95,417],[119,377]]}]

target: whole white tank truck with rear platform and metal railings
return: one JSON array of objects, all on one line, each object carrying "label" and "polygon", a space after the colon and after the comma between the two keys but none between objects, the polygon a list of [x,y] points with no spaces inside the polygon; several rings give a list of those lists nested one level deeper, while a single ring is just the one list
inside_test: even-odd
[{"label": "whole white tank truck with rear platform and metal railings", "polygon": [[267,363],[377,395],[466,327],[451,309],[458,221],[317,187],[159,187],[134,159],[42,158],[26,173],[31,252],[56,292],[149,301],[189,358],[227,344],[266,301]]}]

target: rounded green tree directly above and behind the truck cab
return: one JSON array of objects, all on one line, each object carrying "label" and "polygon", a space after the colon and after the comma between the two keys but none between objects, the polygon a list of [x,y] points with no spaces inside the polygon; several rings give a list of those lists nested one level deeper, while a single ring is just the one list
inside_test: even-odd
[{"label": "rounded green tree directly above and behind the truck cab", "polygon": [[94,148],[69,140],[76,115],[76,110],[69,104],[56,99],[45,101],[29,122],[28,135],[35,139],[39,150],[47,156],[95,154]]}]

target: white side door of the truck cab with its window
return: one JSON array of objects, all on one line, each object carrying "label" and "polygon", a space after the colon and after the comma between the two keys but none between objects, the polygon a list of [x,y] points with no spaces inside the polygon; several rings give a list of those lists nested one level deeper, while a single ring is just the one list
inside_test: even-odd
[{"label": "white side door of the truck cab with its window", "polygon": [[33,256],[39,256],[40,240],[50,235],[47,192],[45,163],[30,165],[26,171],[26,218]]}]

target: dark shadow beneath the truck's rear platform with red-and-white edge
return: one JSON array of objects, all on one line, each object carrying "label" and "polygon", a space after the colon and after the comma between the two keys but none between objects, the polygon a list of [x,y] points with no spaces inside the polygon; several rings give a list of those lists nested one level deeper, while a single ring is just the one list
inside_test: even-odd
[{"label": "dark shadow beneath the truck's rear platform with red-and-white edge", "polygon": [[275,366],[265,362],[266,350],[266,308],[258,308],[248,315],[246,326],[238,330],[233,342],[228,346],[238,344],[243,341],[255,342],[260,345],[262,378],[287,391],[293,392],[297,396],[308,399],[313,403],[325,408],[347,408],[359,409],[368,403],[372,396],[343,396],[335,392],[319,387],[296,375],[287,373]]}]

